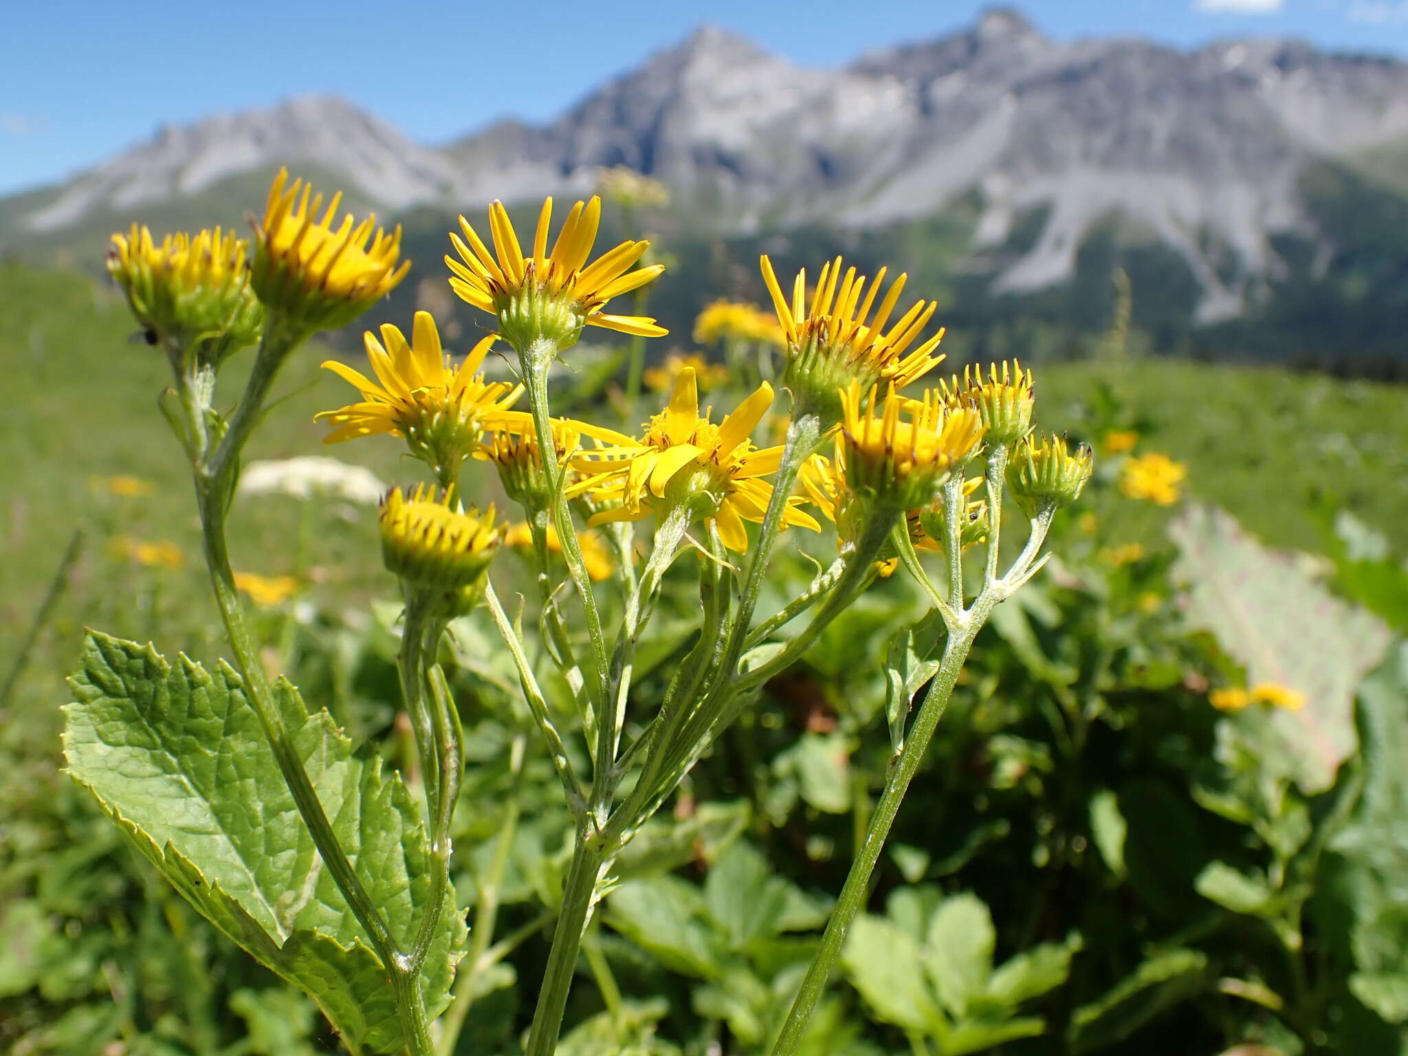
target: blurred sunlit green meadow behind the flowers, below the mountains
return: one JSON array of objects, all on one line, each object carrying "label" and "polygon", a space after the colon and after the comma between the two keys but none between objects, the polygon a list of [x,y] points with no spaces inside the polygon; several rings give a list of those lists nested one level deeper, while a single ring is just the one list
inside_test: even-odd
[{"label": "blurred sunlit green meadow behind the flowers, below the mountains", "polygon": [[[0,266],[0,284],[8,397],[0,418],[0,677],[79,527],[86,531],[83,556],[21,683],[23,696],[37,705],[55,700],[58,674],[75,656],[84,624],[153,639],[168,652],[220,652],[186,466],[155,408],[165,363],[131,339],[127,308],[108,289],[20,265]],[[249,353],[241,356],[248,360]],[[318,370],[321,359],[308,348],[286,367],[280,391],[291,396],[256,435],[251,458],[332,453],[370,466],[383,480],[418,479],[394,444],[321,445],[324,429],[313,414],[349,396],[342,382]],[[1319,549],[1314,510],[1324,496],[1387,534],[1398,552],[1408,548],[1402,389],[1187,362],[1059,365],[1038,379],[1042,427],[1073,436],[1098,432],[1093,393],[1102,379],[1122,400],[1122,418],[1138,422],[1140,449],[1187,462],[1193,497],[1231,510],[1270,543]],[[239,382],[225,379],[227,404]],[[121,498],[94,487],[115,474],[149,480],[155,494]],[[307,573],[310,597],[324,607],[389,594],[372,511],[345,514],[282,497],[245,501],[231,529],[235,566]],[[1121,498],[1101,511],[1101,541],[1156,542],[1166,520],[1164,510]],[[115,535],[170,541],[184,563],[149,569],[118,560],[110,552]]]}]

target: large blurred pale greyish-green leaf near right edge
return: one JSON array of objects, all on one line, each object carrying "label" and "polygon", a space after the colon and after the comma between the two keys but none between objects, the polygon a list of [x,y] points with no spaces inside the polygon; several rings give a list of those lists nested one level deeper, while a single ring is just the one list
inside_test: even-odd
[{"label": "large blurred pale greyish-green leaf near right edge", "polygon": [[1250,684],[1278,683],[1305,696],[1300,710],[1270,717],[1269,763],[1284,766],[1307,794],[1326,791],[1354,752],[1354,687],[1384,656],[1388,628],[1219,510],[1193,505],[1169,534],[1178,545],[1174,576],[1187,590],[1190,624],[1217,635]]}]

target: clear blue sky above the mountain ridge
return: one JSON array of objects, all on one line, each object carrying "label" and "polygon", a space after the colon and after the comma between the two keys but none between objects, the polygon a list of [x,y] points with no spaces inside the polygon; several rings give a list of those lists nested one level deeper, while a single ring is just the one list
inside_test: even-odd
[{"label": "clear blue sky above the mountain ridge", "polygon": [[[422,142],[503,115],[545,120],[703,21],[797,63],[932,38],[956,0],[400,0],[24,3],[0,13],[0,193],[41,186],[206,114],[337,93]],[[1408,0],[1028,0],[1057,38],[1193,46],[1301,37],[1408,56]]]}]

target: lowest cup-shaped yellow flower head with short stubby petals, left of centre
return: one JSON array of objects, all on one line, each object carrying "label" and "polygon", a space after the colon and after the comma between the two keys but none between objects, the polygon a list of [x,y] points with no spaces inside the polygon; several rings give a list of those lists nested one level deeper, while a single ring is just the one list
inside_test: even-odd
[{"label": "lowest cup-shaped yellow flower head with short stubby petals, left of centre", "polygon": [[394,487],[382,504],[382,558],[410,584],[456,596],[476,591],[498,552],[503,525],[494,508],[460,510],[453,489],[424,484],[410,494]]}]

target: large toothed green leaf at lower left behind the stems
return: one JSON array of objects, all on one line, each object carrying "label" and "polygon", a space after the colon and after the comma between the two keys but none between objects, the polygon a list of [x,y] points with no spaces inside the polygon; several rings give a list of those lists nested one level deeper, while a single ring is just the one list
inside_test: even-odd
[{"label": "large toothed green leaf at lower left behind the stems", "polygon": [[[322,866],[239,676],[90,634],[70,686],[69,773],[138,850],[225,935],[303,987],[353,1052],[398,1050],[386,973]],[[431,886],[410,794],[375,753],[353,752],[325,711],[308,715],[293,686],[277,694],[344,850],[408,945]],[[425,969],[432,1014],[448,1002],[463,936],[459,914],[446,912]]]}]

